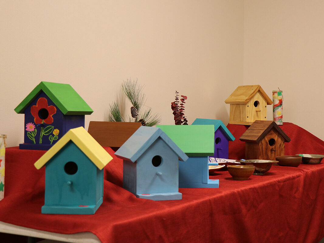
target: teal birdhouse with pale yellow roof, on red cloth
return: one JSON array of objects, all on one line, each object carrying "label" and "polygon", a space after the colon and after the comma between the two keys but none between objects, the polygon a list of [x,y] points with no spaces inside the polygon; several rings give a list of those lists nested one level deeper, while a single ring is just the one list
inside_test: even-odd
[{"label": "teal birdhouse with pale yellow roof, on red cloth", "polygon": [[83,128],[69,130],[34,164],[45,166],[43,214],[94,214],[110,154]]}]

